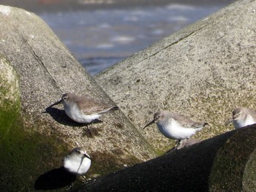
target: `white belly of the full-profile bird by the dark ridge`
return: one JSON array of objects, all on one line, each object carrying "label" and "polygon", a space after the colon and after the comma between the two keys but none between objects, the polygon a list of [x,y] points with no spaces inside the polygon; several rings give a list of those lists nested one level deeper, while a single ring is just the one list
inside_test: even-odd
[{"label": "white belly of the full-profile bird by the dark ridge", "polygon": [[183,128],[178,123],[170,123],[169,125],[157,124],[159,131],[169,139],[186,139],[195,134],[195,128]]}]

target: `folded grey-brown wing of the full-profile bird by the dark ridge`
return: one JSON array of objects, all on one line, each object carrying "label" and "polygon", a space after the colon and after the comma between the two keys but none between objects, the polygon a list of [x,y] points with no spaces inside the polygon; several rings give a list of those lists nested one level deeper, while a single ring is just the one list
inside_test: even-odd
[{"label": "folded grey-brown wing of the full-profile bird by the dark ridge", "polygon": [[206,126],[208,123],[200,122],[197,123],[189,118],[187,118],[184,115],[180,115],[178,113],[173,113],[173,119],[177,120],[179,123],[181,123],[181,126],[187,127],[187,128],[200,128],[202,126]]}]

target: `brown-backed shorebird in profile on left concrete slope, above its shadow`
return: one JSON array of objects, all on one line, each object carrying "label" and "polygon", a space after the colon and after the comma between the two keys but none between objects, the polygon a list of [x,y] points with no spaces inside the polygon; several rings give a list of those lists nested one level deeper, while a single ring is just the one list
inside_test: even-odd
[{"label": "brown-backed shorebird in profile on left concrete slope, above its shadow", "polygon": [[50,107],[56,104],[63,104],[67,116],[78,123],[93,123],[103,114],[118,110],[117,106],[99,104],[92,99],[77,96],[74,93],[64,93],[61,100],[51,104]]}]

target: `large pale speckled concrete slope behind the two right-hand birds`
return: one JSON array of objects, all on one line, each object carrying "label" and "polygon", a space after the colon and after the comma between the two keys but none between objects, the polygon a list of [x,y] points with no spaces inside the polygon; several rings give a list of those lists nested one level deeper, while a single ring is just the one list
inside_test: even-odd
[{"label": "large pale speckled concrete slope behind the two right-hand birds", "polygon": [[229,7],[178,31],[96,76],[141,134],[158,150],[170,147],[157,126],[141,128],[154,112],[170,110],[206,121],[195,138],[224,127],[233,108],[256,108],[256,1]]}]

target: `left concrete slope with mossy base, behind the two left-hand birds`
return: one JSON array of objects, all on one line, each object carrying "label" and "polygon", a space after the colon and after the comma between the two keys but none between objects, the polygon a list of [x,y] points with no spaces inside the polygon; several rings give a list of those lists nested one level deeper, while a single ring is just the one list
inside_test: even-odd
[{"label": "left concrete slope with mossy base, behind the two left-hand birds", "polygon": [[[7,142],[0,136],[1,146],[8,153],[0,157],[4,164],[0,172],[7,173],[1,174],[1,189],[33,191],[37,177],[58,169],[63,156],[78,145],[86,146],[94,162],[87,177],[154,157],[121,110],[94,124],[93,138],[67,118],[62,106],[42,113],[66,92],[105,104],[113,101],[39,17],[23,9],[0,6],[0,21],[0,52],[18,73],[21,104],[19,120],[8,132]],[[38,182],[37,186],[52,187]]]}]

